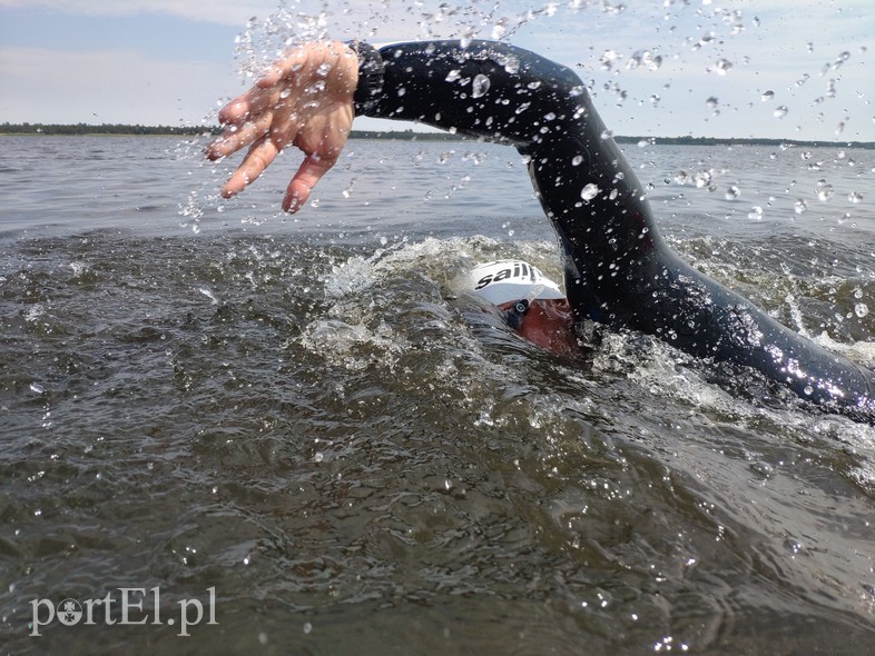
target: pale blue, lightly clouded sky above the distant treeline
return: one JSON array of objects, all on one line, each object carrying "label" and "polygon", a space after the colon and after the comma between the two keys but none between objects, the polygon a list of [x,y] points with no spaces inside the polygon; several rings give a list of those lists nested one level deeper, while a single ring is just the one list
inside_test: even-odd
[{"label": "pale blue, lightly clouded sky above the distant treeline", "polygon": [[212,126],[289,42],[468,37],[573,68],[615,135],[875,141],[872,0],[0,0],[0,123]]}]

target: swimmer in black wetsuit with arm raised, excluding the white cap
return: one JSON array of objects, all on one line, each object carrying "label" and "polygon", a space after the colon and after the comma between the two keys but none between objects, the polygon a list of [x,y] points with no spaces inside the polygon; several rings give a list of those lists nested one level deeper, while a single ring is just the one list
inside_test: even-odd
[{"label": "swimmer in black wetsuit with arm raised, excluding the white cap", "polygon": [[573,324],[584,320],[637,330],[697,358],[751,367],[827,410],[875,423],[875,372],[781,326],[682,261],[662,239],[635,171],[604,138],[583,82],[533,52],[490,41],[296,48],[219,113],[225,129],[207,157],[249,147],[223,195],[242,191],[295,146],[304,160],[283,207],[297,211],[337,161],[354,116],[452,129],[514,146],[528,158],[562,248],[567,310],[542,312],[545,301],[560,299],[537,295],[504,300],[505,310],[528,300],[518,317],[522,335],[538,335],[538,344],[562,352],[576,339]]}]

